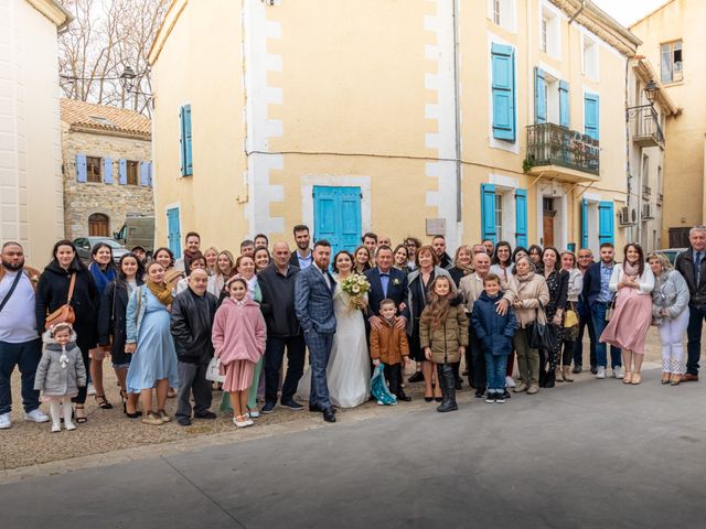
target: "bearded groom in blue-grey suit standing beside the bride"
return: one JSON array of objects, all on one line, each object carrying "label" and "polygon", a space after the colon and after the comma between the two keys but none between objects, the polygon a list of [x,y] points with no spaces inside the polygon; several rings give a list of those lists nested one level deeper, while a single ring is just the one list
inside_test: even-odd
[{"label": "bearded groom in blue-grey suit standing beside the bride", "polygon": [[335,412],[329,397],[327,367],[331,356],[335,315],[333,289],[335,280],[329,273],[331,244],[319,240],[313,247],[313,266],[297,274],[295,284],[295,312],[304,332],[311,364],[311,393],[309,410],[321,411],[323,420],[335,422]]}]

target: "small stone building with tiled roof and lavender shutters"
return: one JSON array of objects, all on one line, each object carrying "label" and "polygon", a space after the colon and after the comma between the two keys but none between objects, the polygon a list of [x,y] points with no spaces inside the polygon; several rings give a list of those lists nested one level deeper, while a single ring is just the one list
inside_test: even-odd
[{"label": "small stone building with tiled roof and lavender shutters", "polygon": [[154,214],[151,123],[132,110],[61,100],[66,237],[111,237]]}]

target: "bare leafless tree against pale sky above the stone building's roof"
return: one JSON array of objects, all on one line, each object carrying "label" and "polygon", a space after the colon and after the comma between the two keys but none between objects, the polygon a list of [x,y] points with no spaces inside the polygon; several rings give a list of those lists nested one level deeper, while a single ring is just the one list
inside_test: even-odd
[{"label": "bare leafless tree against pale sky above the stone building's roof", "polygon": [[[60,78],[66,97],[151,115],[147,62],[171,0],[64,0],[74,15],[60,37]],[[131,90],[120,82],[126,67]]]}]

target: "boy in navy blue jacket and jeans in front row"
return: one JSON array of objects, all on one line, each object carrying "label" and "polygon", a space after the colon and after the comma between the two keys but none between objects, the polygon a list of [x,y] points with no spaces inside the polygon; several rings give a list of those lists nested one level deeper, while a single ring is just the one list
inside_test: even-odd
[{"label": "boy in navy blue jacket and jeans in front row", "polygon": [[512,336],[517,327],[517,320],[512,307],[504,316],[496,312],[495,303],[501,300],[500,278],[489,273],[483,279],[483,292],[471,313],[471,325],[481,343],[485,357],[488,377],[488,396],[485,402],[505,402],[505,369],[507,357],[512,353]]}]

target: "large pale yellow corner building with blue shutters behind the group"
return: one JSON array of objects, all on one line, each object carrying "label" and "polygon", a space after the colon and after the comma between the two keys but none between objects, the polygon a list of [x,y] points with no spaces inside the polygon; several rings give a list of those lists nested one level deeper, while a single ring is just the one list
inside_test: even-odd
[{"label": "large pale yellow corner building with blue shutters behind the group", "polygon": [[639,43],[580,0],[175,0],[149,56],[158,244],[622,244]]}]

